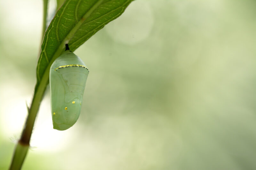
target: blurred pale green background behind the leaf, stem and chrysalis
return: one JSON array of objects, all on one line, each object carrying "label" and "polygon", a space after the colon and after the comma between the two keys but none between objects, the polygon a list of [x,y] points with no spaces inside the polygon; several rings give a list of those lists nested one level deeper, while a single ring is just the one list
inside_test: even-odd
[{"label": "blurred pale green background behind the leaf, stem and chrysalis", "polygon": [[[0,1],[0,169],[36,83],[42,2]],[[49,89],[26,170],[256,169],[256,1],[136,0],[75,54],[82,112],[52,129]],[[50,2],[50,16],[54,1]]]}]

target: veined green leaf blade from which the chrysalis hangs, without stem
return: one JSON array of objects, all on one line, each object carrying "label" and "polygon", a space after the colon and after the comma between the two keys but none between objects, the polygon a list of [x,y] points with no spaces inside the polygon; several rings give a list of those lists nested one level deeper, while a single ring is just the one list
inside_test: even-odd
[{"label": "veined green leaf blade from which the chrysalis hangs, without stem", "polygon": [[119,17],[131,2],[132,0],[65,1],[44,34],[36,69],[35,92],[43,79],[44,84],[48,83],[50,66],[64,51],[66,43],[74,51],[106,24]]}]

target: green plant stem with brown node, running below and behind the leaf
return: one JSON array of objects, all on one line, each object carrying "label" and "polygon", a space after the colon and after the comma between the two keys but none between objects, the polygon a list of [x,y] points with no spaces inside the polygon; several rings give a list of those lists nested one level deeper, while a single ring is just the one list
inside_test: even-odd
[{"label": "green plant stem with brown node, running below and behind the leaf", "polygon": [[[44,38],[44,32],[46,30],[46,17],[47,17],[47,6],[48,6],[48,0],[44,0],[44,16],[43,16],[43,28],[42,28],[42,38],[41,42]],[[49,74],[49,73],[48,73]],[[29,141],[31,138],[32,130],[34,127],[34,123],[36,120],[36,115],[41,103],[41,100],[43,99],[44,91],[46,89],[46,86],[48,84],[49,78],[42,78],[42,81],[40,85],[38,86],[38,89],[35,91],[31,107],[28,109],[28,117],[26,120],[26,124],[24,125],[24,129],[22,132],[22,135],[20,137],[19,142],[17,143],[13,157],[12,162],[10,165],[10,170],[17,170],[21,169],[22,164],[26,158],[28,148],[29,148]]]}]

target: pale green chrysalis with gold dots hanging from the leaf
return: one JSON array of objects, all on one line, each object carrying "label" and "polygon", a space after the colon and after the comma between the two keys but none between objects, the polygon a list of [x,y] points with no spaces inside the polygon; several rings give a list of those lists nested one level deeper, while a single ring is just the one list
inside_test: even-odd
[{"label": "pale green chrysalis with gold dots hanging from the leaf", "polygon": [[69,51],[66,44],[66,51],[52,63],[50,69],[53,129],[66,130],[76,123],[88,74],[84,62]]}]

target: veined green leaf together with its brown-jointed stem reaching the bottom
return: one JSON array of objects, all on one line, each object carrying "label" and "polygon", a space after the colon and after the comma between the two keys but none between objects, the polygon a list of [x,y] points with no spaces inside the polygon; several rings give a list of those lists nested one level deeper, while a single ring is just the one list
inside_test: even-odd
[{"label": "veined green leaf together with its brown-jointed stem reaching the bottom", "polygon": [[[47,2],[48,0],[44,0],[45,14]],[[28,117],[15,149],[10,169],[20,169],[23,164],[36,115],[46,86],[49,84],[50,67],[64,51],[65,44],[68,43],[70,50],[74,51],[106,24],[119,17],[131,2],[132,0],[66,0],[57,11],[44,33],[36,68],[35,93],[31,107],[27,107]],[[58,3],[60,5],[61,2]],[[26,147],[20,147],[20,144]]]}]

